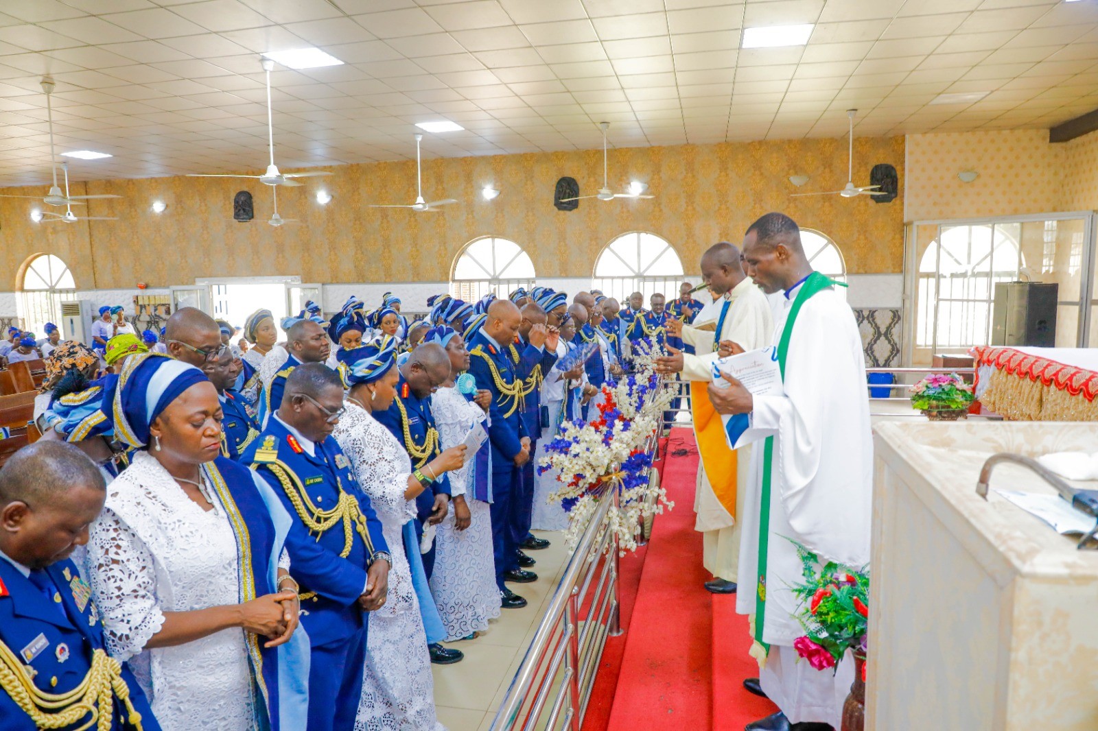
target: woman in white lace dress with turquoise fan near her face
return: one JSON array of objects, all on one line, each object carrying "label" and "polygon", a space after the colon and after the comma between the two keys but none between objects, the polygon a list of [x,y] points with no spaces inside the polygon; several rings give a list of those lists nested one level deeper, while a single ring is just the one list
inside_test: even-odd
[{"label": "woman in white lace dress with turquoise fan near her face", "polygon": [[[469,369],[469,351],[464,340],[449,327],[436,327],[424,342],[437,342],[450,356],[450,380],[430,397],[442,447],[460,445],[473,424],[484,421],[492,398],[488,391],[477,391],[469,401],[455,385],[460,373]],[[474,384],[467,386],[475,390]],[[470,395],[472,395],[470,393]],[[486,457],[489,446],[482,445],[477,457]],[[481,475],[478,492],[474,470]],[[500,616],[500,589],[495,584],[495,561],[492,554],[492,516],[485,502],[492,471],[488,463],[470,459],[468,464],[450,473],[453,509],[438,526],[435,538],[435,571],[430,591],[435,606],[446,625],[447,639],[472,639],[488,629],[489,620]],[[479,495],[479,497],[478,497]]]}]

